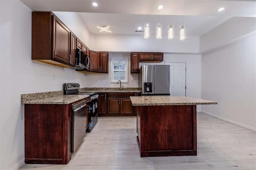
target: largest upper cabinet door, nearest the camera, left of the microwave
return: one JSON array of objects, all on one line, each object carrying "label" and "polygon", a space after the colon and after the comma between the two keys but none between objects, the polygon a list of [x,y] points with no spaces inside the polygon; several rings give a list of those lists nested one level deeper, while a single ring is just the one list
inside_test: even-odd
[{"label": "largest upper cabinet door, nearest the camera, left of the microwave", "polygon": [[[70,30],[55,16],[53,16],[53,55],[52,58],[63,63],[70,63]],[[40,55],[40,54],[38,54]]]}]

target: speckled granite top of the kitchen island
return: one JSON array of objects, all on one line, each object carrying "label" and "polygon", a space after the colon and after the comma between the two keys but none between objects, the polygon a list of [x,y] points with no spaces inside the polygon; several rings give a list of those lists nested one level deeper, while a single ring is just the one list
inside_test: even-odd
[{"label": "speckled granite top of the kitchen island", "polygon": [[186,96],[131,96],[133,106],[157,105],[217,105],[215,101],[208,101]]}]

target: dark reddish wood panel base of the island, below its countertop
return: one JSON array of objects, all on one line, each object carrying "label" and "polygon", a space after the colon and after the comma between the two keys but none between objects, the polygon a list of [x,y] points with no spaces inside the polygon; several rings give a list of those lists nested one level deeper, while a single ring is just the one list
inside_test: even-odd
[{"label": "dark reddish wood panel base of the island, below its countertop", "polygon": [[142,157],[196,155],[195,106],[141,106],[138,110]]}]

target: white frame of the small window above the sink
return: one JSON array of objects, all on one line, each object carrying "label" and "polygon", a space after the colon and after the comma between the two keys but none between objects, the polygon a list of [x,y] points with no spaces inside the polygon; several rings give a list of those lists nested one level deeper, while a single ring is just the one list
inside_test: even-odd
[{"label": "white frame of the small window above the sink", "polygon": [[111,57],[110,58],[110,83],[117,83],[118,80],[114,80],[114,61],[126,61],[125,64],[125,80],[121,80],[122,83],[129,83],[129,62],[128,57]]}]

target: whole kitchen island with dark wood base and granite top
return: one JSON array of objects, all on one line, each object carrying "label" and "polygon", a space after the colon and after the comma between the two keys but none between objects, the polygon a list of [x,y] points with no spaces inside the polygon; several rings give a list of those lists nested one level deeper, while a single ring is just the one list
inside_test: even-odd
[{"label": "whole kitchen island with dark wood base and granite top", "polygon": [[137,109],[141,157],[197,155],[196,105],[217,102],[185,96],[130,97]]}]

